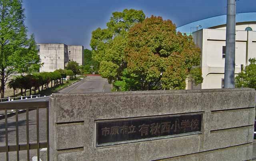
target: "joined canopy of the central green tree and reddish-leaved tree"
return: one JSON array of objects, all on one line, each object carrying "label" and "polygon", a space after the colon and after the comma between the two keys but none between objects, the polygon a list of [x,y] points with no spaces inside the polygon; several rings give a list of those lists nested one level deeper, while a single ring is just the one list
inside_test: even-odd
[{"label": "joined canopy of the central green tree and reddish-leaved tree", "polygon": [[101,76],[122,91],[185,89],[186,80],[202,83],[200,49],[192,36],[176,32],[170,20],[144,18],[142,11],[114,12],[107,29],[92,32],[92,55]]}]

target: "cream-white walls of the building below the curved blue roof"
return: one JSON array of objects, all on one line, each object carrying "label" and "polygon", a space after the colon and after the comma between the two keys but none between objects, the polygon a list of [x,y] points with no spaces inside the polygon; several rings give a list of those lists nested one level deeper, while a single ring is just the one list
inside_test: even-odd
[{"label": "cream-white walls of the building below the curved blue roof", "polygon": [[[244,26],[244,24],[243,24]],[[224,78],[225,58],[222,58],[222,46],[226,46],[226,30],[202,29],[193,33],[194,42],[201,49],[202,89],[221,88]],[[248,48],[247,48],[248,45]],[[241,71],[250,58],[256,58],[256,32],[236,30],[236,68]],[[194,87],[190,85],[190,88]]]}]

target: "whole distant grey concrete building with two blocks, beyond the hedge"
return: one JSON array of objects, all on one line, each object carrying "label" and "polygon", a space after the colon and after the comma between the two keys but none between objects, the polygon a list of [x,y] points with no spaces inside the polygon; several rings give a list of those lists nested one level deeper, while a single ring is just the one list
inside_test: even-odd
[{"label": "whole distant grey concrete building with two blocks, beyond the hedge", "polygon": [[73,60],[79,65],[84,62],[83,46],[68,46],[66,44],[37,44],[38,55],[43,63],[40,72],[53,72],[64,69]]}]

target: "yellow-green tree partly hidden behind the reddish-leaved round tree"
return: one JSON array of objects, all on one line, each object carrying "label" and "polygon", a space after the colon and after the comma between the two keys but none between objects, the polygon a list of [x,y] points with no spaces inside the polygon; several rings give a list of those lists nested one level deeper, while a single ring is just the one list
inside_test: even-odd
[{"label": "yellow-green tree partly hidden behind the reddish-leaved round tree", "polygon": [[112,13],[106,29],[97,28],[92,32],[92,58],[100,64],[99,73],[109,82],[120,81],[124,77],[122,71],[126,68],[124,49],[128,31],[144,19],[142,10],[125,9]]}]

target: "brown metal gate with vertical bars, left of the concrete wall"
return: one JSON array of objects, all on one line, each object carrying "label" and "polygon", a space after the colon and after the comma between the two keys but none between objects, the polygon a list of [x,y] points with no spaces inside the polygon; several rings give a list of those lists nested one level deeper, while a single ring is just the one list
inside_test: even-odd
[{"label": "brown metal gate with vertical bars, left of the concrete wall", "polygon": [[[19,126],[18,117],[19,111],[23,109],[26,112],[26,144],[19,143]],[[40,142],[39,139],[39,109],[46,109],[46,142]],[[5,124],[5,146],[0,146],[0,153],[6,153],[6,161],[9,161],[9,152],[16,151],[17,161],[19,158],[19,151],[27,151],[27,159],[30,160],[30,150],[37,150],[37,160],[40,161],[40,149],[47,148],[47,160],[49,159],[49,102],[5,102],[0,103],[0,110],[4,110],[4,124]],[[15,126],[16,126],[16,145],[9,145],[8,143],[8,111],[15,111]],[[30,143],[29,135],[29,111],[36,110],[36,143]],[[13,112],[12,112],[13,113]]]}]

